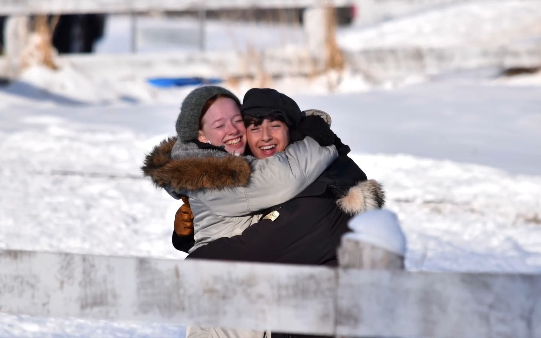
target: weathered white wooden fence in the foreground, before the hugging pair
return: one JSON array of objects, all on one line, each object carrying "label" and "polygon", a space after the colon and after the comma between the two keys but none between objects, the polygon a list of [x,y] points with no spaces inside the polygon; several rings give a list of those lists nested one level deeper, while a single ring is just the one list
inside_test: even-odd
[{"label": "weathered white wooden fence in the foreground, before the hugging pair", "polygon": [[400,255],[363,231],[342,241],[339,268],[4,250],[0,312],[337,336],[541,336],[541,275],[397,270]]}]

